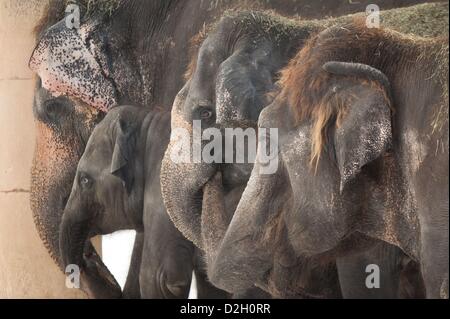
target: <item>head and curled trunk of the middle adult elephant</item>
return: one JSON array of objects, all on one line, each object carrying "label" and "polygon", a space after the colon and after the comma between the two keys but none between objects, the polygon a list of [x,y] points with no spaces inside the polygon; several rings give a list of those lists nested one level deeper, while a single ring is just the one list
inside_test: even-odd
[{"label": "head and curled trunk of the middle adult elephant", "polygon": [[[198,247],[203,247],[204,186],[220,170],[223,192],[230,193],[233,198],[226,201],[234,203],[229,205],[232,212],[239,199],[236,189],[242,191],[252,168],[251,155],[240,162],[235,160],[237,155],[242,155],[239,151],[244,152],[235,148],[235,144],[223,143],[211,152],[205,147],[207,142],[212,138],[222,141],[227,130],[256,132],[259,113],[270,100],[266,93],[273,89],[276,72],[293,49],[293,45],[286,45],[289,41],[284,41],[285,38],[305,36],[303,29],[289,30],[293,34],[279,34],[273,41],[271,33],[258,30],[258,19],[268,24],[282,22],[272,21],[270,15],[256,15],[244,12],[220,20],[193,57],[193,73],[172,108],[171,142],[161,171],[163,197],[177,228]],[[248,30],[243,32],[245,28]],[[271,31],[276,33],[275,29]],[[220,136],[209,129],[216,129],[216,133],[220,131]],[[183,132],[189,139],[180,136]],[[181,151],[185,155],[189,153],[186,158],[177,156]],[[197,151],[202,154],[201,158],[195,159]],[[203,155],[208,151],[212,160],[204,160]]]}]

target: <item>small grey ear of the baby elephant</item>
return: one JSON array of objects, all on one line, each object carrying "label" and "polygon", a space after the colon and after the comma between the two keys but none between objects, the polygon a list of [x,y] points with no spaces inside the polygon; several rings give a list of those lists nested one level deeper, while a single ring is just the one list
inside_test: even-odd
[{"label": "small grey ear of the baby elephant", "polygon": [[117,120],[116,125],[116,141],[111,159],[111,174],[122,180],[129,194],[134,182],[132,157],[136,148],[137,126],[122,118]]}]

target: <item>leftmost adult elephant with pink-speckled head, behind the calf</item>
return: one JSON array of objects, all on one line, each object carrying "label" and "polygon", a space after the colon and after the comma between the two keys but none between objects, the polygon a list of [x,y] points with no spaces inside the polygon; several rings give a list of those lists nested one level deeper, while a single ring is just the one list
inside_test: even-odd
[{"label": "leftmost adult elephant with pink-speckled head, behind the calf", "polygon": [[[66,25],[67,1],[52,0],[36,27],[38,43],[30,67],[40,77],[34,114],[37,140],[31,206],[38,233],[62,268],[58,246],[61,215],[86,142],[108,109],[118,102],[172,105],[183,84],[190,39],[230,7],[247,1],[111,0],[71,1],[79,5],[79,29]],[[304,5],[255,1],[281,12]],[[75,13],[75,11],[73,12]],[[73,23],[73,15],[68,16]],[[75,17],[76,18],[76,17]],[[125,297],[137,297],[143,245],[137,235]],[[120,290],[91,245],[86,248],[82,287],[91,297],[117,297]]]}]

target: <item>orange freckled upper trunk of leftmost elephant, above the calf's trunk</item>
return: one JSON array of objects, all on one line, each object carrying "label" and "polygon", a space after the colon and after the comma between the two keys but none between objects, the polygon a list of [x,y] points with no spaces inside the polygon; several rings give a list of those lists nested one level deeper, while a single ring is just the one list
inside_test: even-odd
[{"label": "orange freckled upper trunk of leftmost elephant, above the calf's trunk", "polygon": [[[36,122],[36,148],[31,172],[31,209],[38,233],[53,260],[60,266],[59,225],[81,153],[80,143],[63,141]],[[70,145],[70,147],[68,147]]]}]

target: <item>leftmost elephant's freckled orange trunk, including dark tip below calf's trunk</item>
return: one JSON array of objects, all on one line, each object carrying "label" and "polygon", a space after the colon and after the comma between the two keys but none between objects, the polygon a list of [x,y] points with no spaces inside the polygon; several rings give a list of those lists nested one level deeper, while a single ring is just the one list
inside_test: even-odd
[{"label": "leftmost elephant's freckled orange trunk, including dark tip below calf's trunk", "polygon": [[[89,128],[85,130],[89,131]],[[36,121],[36,135],[31,172],[33,219],[48,253],[64,271],[59,250],[59,227],[85,143],[77,135],[57,135],[55,130],[40,121]],[[89,241],[85,251],[90,257],[81,277],[82,290],[91,298],[119,297],[119,285]]]}]

